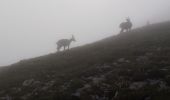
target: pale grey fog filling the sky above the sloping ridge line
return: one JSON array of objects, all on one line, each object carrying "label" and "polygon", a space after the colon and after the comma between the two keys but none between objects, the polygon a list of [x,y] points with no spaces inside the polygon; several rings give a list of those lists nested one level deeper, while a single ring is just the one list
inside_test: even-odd
[{"label": "pale grey fog filling the sky above the sloping ridge line", "polygon": [[169,0],[0,0],[0,66],[56,52],[74,34],[76,47],[134,27],[170,20]]}]

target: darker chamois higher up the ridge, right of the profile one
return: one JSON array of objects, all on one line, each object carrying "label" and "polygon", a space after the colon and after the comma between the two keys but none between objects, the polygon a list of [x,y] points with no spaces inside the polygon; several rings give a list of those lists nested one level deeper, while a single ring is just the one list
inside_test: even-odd
[{"label": "darker chamois higher up the ridge, right of the profile one", "polygon": [[130,31],[132,28],[132,22],[130,21],[130,18],[127,18],[126,22],[121,23],[120,28],[121,28],[120,33],[124,32],[124,30],[126,32]]}]

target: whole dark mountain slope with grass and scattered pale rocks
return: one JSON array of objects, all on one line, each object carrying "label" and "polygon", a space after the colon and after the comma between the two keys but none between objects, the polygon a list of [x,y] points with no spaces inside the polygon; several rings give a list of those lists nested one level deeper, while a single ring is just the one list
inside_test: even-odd
[{"label": "whole dark mountain slope with grass and scattered pale rocks", "polygon": [[2,69],[0,97],[169,100],[169,50],[170,22],[134,29]]}]

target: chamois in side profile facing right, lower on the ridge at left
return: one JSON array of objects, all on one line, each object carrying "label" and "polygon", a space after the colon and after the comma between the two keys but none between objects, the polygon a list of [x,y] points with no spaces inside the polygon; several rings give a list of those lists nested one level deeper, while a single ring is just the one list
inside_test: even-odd
[{"label": "chamois in side profile facing right, lower on the ridge at left", "polygon": [[66,47],[70,47],[70,44],[72,41],[76,41],[74,36],[72,35],[71,39],[61,39],[59,40],[56,44],[57,44],[57,51],[60,51],[61,47],[64,47],[64,50],[66,49]]}]

